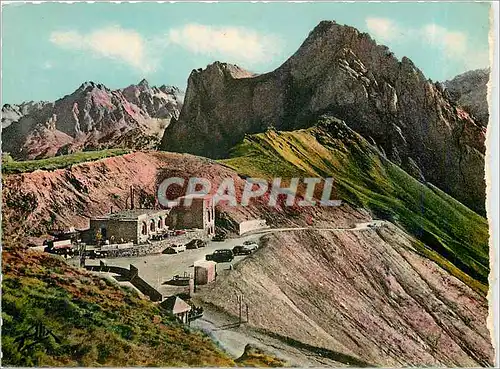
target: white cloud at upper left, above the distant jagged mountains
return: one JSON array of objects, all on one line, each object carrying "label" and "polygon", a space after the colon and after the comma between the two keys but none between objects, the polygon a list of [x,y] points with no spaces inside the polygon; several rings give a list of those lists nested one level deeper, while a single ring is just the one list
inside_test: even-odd
[{"label": "white cloud at upper left, above the distant jagged mountains", "polygon": [[88,34],[52,32],[50,41],[63,48],[119,60],[143,73],[154,71],[157,64],[157,60],[150,56],[143,37],[136,31],[119,26],[101,28]]}]

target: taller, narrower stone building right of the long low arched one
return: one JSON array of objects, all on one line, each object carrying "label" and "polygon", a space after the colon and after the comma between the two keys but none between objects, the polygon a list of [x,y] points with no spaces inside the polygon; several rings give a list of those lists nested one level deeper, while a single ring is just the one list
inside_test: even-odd
[{"label": "taller, narrower stone building right of the long low arched one", "polygon": [[[210,195],[179,197],[171,208],[167,224],[170,229],[201,229],[207,236],[215,234],[215,207]],[[189,204],[189,201],[191,204]]]}]

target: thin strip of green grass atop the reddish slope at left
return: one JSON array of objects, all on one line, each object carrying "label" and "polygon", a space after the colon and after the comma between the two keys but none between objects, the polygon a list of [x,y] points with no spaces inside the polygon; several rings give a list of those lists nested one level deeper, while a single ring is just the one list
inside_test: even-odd
[{"label": "thin strip of green grass atop the reddish slope at left", "polygon": [[9,157],[2,158],[2,173],[14,174],[33,172],[35,170],[54,170],[67,168],[74,164],[94,161],[112,156],[128,154],[130,150],[108,149],[101,151],[82,151],[68,155],[55,156],[48,159],[15,161]]}]

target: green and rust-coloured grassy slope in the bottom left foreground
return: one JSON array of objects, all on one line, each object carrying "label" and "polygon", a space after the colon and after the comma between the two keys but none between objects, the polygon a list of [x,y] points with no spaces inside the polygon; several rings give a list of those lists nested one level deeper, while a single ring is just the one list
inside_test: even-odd
[{"label": "green and rust-coloured grassy slope in the bottom left foreground", "polygon": [[[209,337],[132,290],[47,254],[2,258],[3,365],[236,365]],[[40,324],[53,336],[30,337]]]}]

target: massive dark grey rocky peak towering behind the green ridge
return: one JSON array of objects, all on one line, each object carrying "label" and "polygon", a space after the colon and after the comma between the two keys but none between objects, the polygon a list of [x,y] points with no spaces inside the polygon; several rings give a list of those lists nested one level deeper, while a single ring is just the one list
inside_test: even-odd
[{"label": "massive dark grey rocky peak towering behind the green ridge", "polygon": [[[216,62],[189,76],[161,148],[221,158],[247,133],[293,130],[333,113],[387,157],[484,213],[485,127],[366,33],[321,22],[273,72]],[[424,178],[422,178],[422,176]]]}]

